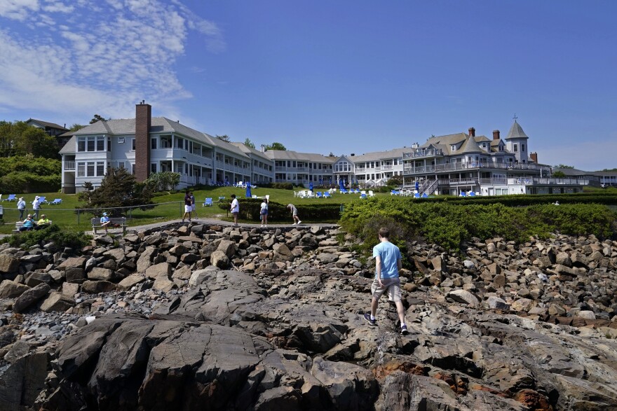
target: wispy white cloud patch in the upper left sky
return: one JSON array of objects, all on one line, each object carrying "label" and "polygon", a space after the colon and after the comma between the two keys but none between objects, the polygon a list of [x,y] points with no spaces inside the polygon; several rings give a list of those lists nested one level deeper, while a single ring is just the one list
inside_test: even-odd
[{"label": "wispy white cloud patch in the upper left sky", "polygon": [[176,0],[0,0],[3,18],[16,29],[0,30],[0,111],[120,118],[147,99],[175,113],[191,97],[174,70],[189,32],[225,48],[215,23]]}]

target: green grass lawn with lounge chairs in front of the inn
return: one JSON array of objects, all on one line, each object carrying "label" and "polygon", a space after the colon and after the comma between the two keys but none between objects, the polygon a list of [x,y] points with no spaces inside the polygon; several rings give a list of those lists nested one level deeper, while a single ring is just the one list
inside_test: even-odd
[{"label": "green grass lawn with lounge chairs in front of the inn", "polygon": [[[316,189],[317,190],[317,189]],[[243,188],[233,187],[219,187],[219,188],[206,188],[203,190],[194,190],[195,200],[197,203],[197,215],[201,218],[219,218],[226,221],[230,221],[231,218],[227,216],[226,210],[218,207],[219,197],[226,197],[229,200],[231,194],[236,194],[238,198],[245,197],[245,190]],[[274,188],[253,188],[252,194],[257,196],[269,195],[270,201],[278,202],[280,204],[322,204],[322,203],[334,203],[334,204],[347,204],[349,202],[358,200],[360,201],[360,195],[357,194],[340,194],[333,193],[332,198],[297,198],[294,197],[292,190],[280,190]],[[63,228],[69,230],[83,230],[89,231],[91,228],[90,218],[93,214],[80,212],[79,215],[76,212],[76,208],[81,206],[77,195],[74,194],[58,194],[58,193],[41,193],[40,196],[46,196],[46,200],[54,200],[55,198],[61,198],[62,204],[59,205],[44,205],[41,207],[40,214],[46,214],[46,216],[55,224],[61,225]],[[389,193],[376,193],[375,195],[390,195]],[[3,195],[2,197],[8,197]],[[24,197],[26,200],[26,207],[29,211],[32,211],[32,201],[34,200],[34,194],[18,194],[17,198]],[[214,202],[213,207],[201,207],[206,197],[212,197]],[[184,193],[175,193],[169,195],[160,195],[154,197],[153,201],[159,204],[154,209],[142,211],[136,209],[127,215],[128,225],[144,225],[149,223],[158,223],[161,221],[176,220],[182,218],[184,211]],[[0,225],[0,233],[11,233],[15,228],[15,221],[18,220],[19,211],[17,210],[17,202],[0,202],[0,205],[4,207],[4,225]],[[24,215],[27,215],[25,213]],[[290,217],[291,221],[291,217]],[[242,221],[245,223],[256,223],[256,221]],[[306,221],[307,223],[310,221]]]}]

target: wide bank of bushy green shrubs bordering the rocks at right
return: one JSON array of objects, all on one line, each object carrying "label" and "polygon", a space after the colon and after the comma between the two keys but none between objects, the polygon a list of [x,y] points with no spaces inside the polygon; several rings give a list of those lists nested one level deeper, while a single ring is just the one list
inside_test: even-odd
[{"label": "wide bank of bushy green shrubs bordering the rocks at right", "polygon": [[475,201],[461,204],[372,197],[346,205],[340,223],[348,232],[368,242],[367,247],[377,243],[377,231],[386,226],[399,241],[422,237],[446,249],[458,250],[472,237],[484,240],[499,236],[524,242],[530,236],[546,238],[552,232],[562,232],[610,238],[617,232],[616,219],[617,214],[602,204],[507,207]]}]

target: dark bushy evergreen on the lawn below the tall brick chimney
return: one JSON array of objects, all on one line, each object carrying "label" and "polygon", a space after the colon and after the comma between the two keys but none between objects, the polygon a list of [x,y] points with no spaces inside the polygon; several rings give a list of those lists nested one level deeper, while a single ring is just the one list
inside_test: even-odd
[{"label": "dark bushy evergreen on the lawn below the tall brick chimney", "polygon": [[[79,200],[86,202],[86,209],[106,209],[111,216],[118,217],[126,210],[114,207],[136,207],[151,209],[152,187],[149,183],[137,183],[135,176],[125,168],[109,169],[99,188],[90,193],[79,193]],[[89,199],[88,199],[89,194]]]}]

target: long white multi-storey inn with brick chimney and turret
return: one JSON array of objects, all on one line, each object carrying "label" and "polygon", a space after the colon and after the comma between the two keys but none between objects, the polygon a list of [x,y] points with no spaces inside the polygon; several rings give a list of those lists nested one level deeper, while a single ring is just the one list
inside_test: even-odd
[{"label": "long white multi-storey inn with brick chimney and turret", "polygon": [[[63,134],[66,136],[66,134]],[[110,167],[124,167],[144,181],[156,172],[180,174],[189,186],[287,182],[308,187],[383,186],[400,176],[406,188],[416,181],[427,194],[473,191],[485,195],[576,193],[599,178],[576,174],[552,177],[548,165],[529,153],[529,137],[516,122],[506,139],[468,133],[430,137],[425,144],[362,155],[330,157],[296,151],[258,151],[227,143],[164,117],[151,117],[151,106],[135,106],[135,118],[98,121],[70,134],[62,147],[62,191],[76,193],[83,184],[99,186]]]}]

